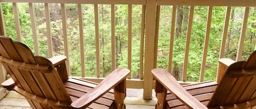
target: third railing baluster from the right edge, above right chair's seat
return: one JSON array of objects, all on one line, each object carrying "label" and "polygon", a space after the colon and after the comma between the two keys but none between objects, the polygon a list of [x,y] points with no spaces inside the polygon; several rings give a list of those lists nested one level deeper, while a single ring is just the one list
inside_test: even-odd
[{"label": "third railing baluster from the right edge, above right chair's seat", "polygon": [[206,57],[207,57],[207,50],[208,50],[209,39],[210,39],[211,20],[212,20],[212,6],[210,6],[208,9],[207,24],[206,24],[206,31],[205,31],[204,53],[203,53],[203,59],[201,63],[201,72],[200,72],[200,78],[199,78],[200,82],[204,81]]}]

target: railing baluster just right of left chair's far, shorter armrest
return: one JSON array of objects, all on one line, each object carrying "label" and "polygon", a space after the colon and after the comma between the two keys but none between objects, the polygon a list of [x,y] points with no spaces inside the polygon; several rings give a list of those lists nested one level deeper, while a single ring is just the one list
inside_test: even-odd
[{"label": "railing baluster just right of left chair's far, shorter armrest", "polygon": [[68,53],[68,36],[67,36],[67,16],[66,16],[66,5],[61,4],[61,17],[62,17],[62,31],[63,31],[63,40],[64,40],[64,52],[67,56],[66,66],[68,75],[70,75],[69,68],[69,53]]}]

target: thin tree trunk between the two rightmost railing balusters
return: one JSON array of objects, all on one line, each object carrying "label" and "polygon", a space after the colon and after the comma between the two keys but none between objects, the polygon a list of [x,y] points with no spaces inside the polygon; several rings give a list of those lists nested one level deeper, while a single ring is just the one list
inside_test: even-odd
[{"label": "thin tree trunk between the two rightmost railing balusters", "polygon": [[232,32],[232,29],[233,29],[234,12],[235,12],[235,8],[233,8],[231,10],[231,17],[230,17],[231,24],[230,24],[230,27],[229,27],[229,33],[228,33],[228,36],[227,36],[227,43],[226,43],[226,47],[225,47],[227,55],[229,54],[229,43],[230,43],[230,38],[231,38],[231,32]]}]

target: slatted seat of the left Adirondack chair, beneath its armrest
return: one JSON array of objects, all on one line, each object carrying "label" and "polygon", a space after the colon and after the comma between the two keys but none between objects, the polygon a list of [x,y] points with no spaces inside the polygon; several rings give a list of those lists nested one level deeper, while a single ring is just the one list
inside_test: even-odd
[{"label": "slatted seat of the left Adirondack chair, beneath its armrest", "polygon": [[[98,84],[92,81],[86,81],[82,79],[69,78],[64,85],[69,93],[72,101],[82,97],[88,91],[91,91]],[[114,91],[111,89],[108,93],[94,101],[88,108],[114,108]]]}]

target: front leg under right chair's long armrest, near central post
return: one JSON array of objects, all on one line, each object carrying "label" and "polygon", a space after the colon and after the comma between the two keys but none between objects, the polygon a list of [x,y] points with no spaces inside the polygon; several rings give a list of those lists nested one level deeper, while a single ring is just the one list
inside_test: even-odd
[{"label": "front leg under right chair's long armrest, near central post", "polygon": [[156,109],[165,108],[167,89],[165,89],[164,86],[162,86],[162,84],[160,84],[157,80],[155,92],[157,96]]}]

